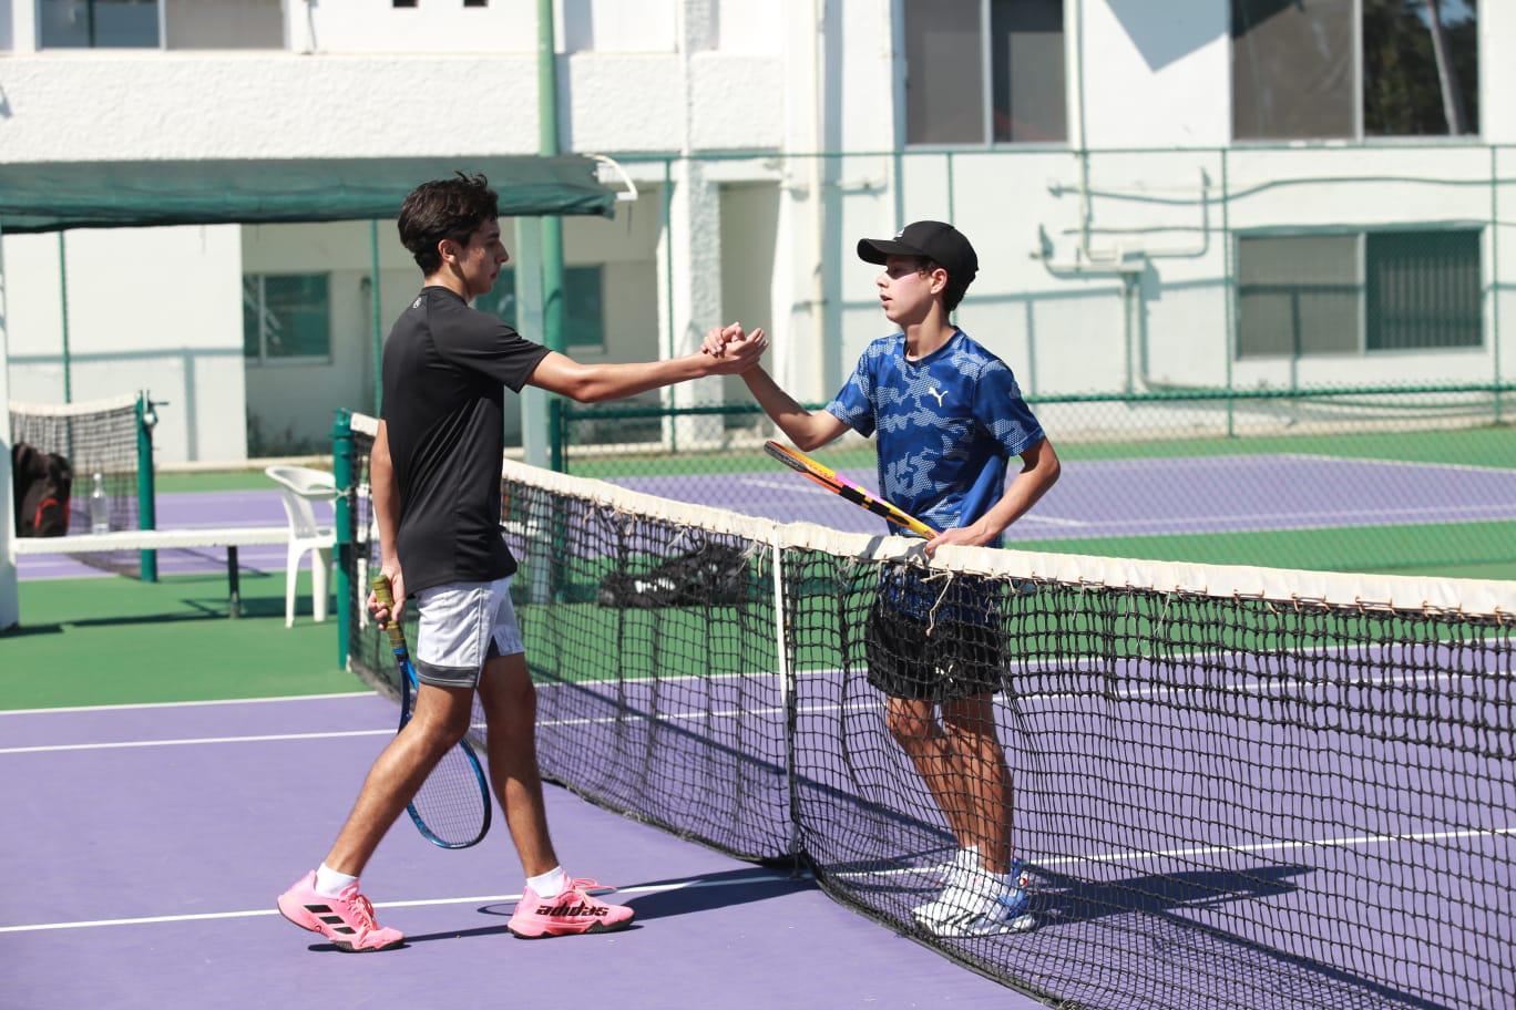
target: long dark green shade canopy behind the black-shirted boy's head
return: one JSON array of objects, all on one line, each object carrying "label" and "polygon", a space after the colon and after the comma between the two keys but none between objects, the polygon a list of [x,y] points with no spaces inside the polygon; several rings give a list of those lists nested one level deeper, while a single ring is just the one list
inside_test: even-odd
[{"label": "long dark green shade canopy behind the black-shirted boy's head", "polygon": [[611,217],[615,204],[579,154],[33,162],[0,165],[0,229],[385,220],[418,183],[458,170],[488,176],[502,217]]}]

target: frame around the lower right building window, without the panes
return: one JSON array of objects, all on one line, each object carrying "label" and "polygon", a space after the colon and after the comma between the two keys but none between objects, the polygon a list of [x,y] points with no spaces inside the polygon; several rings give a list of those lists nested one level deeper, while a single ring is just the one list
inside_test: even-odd
[{"label": "frame around the lower right building window, without the panes", "polygon": [[[1478,344],[1467,345],[1442,345],[1442,347],[1369,347],[1369,236],[1383,233],[1407,233],[1407,232],[1427,232],[1427,233],[1454,233],[1454,232],[1474,232],[1478,238],[1475,242],[1478,256],[1478,276],[1480,276],[1480,341]],[[1355,286],[1357,286],[1357,341],[1351,351],[1305,351],[1298,354],[1293,353],[1251,353],[1245,354],[1242,348],[1242,241],[1249,238],[1340,238],[1352,236],[1354,239],[1354,271],[1355,271]],[[1469,221],[1436,221],[1436,223],[1396,223],[1396,224],[1375,224],[1375,226],[1343,226],[1343,227],[1258,227],[1258,229],[1239,229],[1231,233],[1231,262],[1236,265],[1234,273],[1229,277],[1229,283],[1237,292],[1234,298],[1234,315],[1233,315],[1233,347],[1231,360],[1234,363],[1245,362],[1283,362],[1283,360],[1366,360],[1377,357],[1398,357],[1407,354],[1486,354],[1490,351],[1490,330],[1489,330],[1489,250],[1487,242],[1490,241],[1489,227],[1486,224]]]}]

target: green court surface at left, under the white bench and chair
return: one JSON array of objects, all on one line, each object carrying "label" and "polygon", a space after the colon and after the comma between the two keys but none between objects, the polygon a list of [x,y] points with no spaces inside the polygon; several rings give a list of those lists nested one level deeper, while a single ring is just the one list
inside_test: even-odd
[{"label": "green court surface at left, under the white bench and chair", "polygon": [[0,636],[0,706],[132,704],[365,690],[337,663],[337,621],[311,621],[302,581],[283,625],[283,572],[244,572],[244,616],[226,575],[21,583],[21,627]]}]

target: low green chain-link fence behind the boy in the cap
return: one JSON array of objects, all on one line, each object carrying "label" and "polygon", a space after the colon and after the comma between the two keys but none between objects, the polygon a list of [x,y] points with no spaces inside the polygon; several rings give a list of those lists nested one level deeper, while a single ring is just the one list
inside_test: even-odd
[{"label": "low green chain-link fence behind the boy in the cap", "polygon": [[[1513,394],[1448,385],[1029,397],[1066,466],[1007,530],[1007,547],[1511,578]],[[763,442],[784,436],[750,403],[553,409],[568,472],[773,519],[884,530],[775,465]],[[860,438],[817,456],[879,483]]]}]

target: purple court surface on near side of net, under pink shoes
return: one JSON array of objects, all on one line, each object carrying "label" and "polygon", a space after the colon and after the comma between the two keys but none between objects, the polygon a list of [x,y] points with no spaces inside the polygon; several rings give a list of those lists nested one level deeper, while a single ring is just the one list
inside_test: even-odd
[{"label": "purple court surface on near side of net, under pink shoes", "polygon": [[565,865],[622,886],[632,930],[517,942],[505,921],[520,871],[503,828],[443,853],[402,819],[364,880],[406,948],[334,951],[273,899],[320,860],[393,719],[373,695],[0,715],[0,803],[26,827],[0,853],[5,1004],[1034,1005],[805,877],[556,787]]}]

